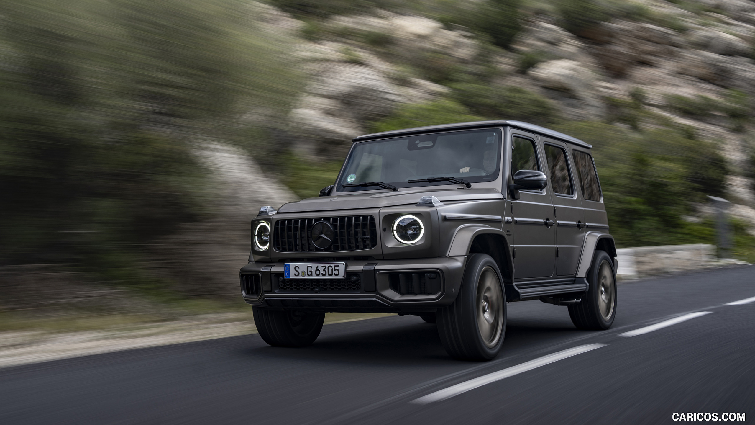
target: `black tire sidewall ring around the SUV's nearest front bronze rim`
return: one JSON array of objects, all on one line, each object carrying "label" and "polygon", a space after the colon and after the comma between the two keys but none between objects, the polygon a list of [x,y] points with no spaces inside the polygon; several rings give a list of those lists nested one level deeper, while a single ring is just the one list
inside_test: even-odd
[{"label": "black tire sidewall ring around the SUV's nearest front bronze rim", "polygon": [[[498,275],[498,282],[501,284],[501,306],[503,312],[501,313],[501,336],[498,337],[498,343],[493,347],[488,347],[482,340],[479,328],[477,325],[477,287],[479,285],[479,278],[482,275],[482,270],[485,267],[490,266],[495,274]],[[464,314],[464,322],[467,324],[466,332],[470,336],[473,336],[473,343],[476,345],[476,352],[482,354],[485,360],[490,360],[498,355],[501,351],[501,345],[504,343],[504,337],[506,336],[506,292],[504,290],[503,278],[501,271],[498,270],[498,265],[495,260],[487,254],[472,254],[467,262],[467,267],[464,269],[464,281],[461,283],[461,293],[459,294],[458,301],[462,303],[462,312]]]}]

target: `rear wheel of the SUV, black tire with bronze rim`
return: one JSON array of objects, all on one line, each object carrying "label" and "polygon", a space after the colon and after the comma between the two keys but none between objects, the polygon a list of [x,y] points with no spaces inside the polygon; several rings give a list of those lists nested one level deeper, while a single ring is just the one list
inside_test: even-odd
[{"label": "rear wheel of the SUV, black tire with bronze rim", "polygon": [[569,306],[569,317],[579,329],[606,330],[613,324],[618,305],[616,271],[606,251],[596,250],[587,272],[590,287],[582,301]]}]

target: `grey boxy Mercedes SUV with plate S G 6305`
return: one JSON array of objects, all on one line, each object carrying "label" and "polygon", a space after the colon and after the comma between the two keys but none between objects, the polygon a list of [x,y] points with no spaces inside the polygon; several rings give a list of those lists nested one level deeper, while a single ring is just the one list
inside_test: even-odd
[{"label": "grey boxy Mercedes SUV with plate S G 6305", "polygon": [[325,312],[419,315],[489,360],[507,302],[616,315],[616,250],[590,144],[517,121],[363,135],[319,197],[260,209],[241,269],[260,337],[307,346]]}]

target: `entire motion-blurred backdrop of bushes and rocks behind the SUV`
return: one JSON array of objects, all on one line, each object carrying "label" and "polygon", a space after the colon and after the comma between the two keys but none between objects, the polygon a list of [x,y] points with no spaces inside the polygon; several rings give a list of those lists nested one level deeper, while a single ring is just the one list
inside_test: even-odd
[{"label": "entire motion-blurred backdrop of bushes and rocks behind the SUV", "polygon": [[2,0],[0,330],[249,320],[260,206],[476,119],[593,144],[621,247],[715,244],[713,195],[751,262],[753,40],[748,0]]}]

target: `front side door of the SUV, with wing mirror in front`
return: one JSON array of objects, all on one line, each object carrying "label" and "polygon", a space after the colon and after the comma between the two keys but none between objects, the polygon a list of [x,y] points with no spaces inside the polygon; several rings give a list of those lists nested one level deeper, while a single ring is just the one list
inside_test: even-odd
[{"label": "front side door of the SUV, with wing mirror in front", "polygon": [[[511,175],[520,169],[544,172],[537,138],[513,130],[511,135]],[[550,278],[556,267],[556,228],[548,188],[519,191],[519,200],[510,200],[513,221],[514,278]]]}]

